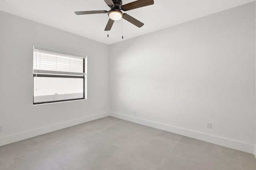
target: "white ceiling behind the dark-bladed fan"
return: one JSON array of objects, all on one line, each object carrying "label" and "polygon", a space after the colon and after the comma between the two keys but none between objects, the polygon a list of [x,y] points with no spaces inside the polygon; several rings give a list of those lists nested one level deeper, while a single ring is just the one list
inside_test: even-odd
[{"label": "white ceiling behind the dark-bladed fan", "polygon": [[[133,1],[123,0],[123,4]],[[154,5],[125,12],[145,25],[138,28],[124,20],[124,39],[122,20],[114,23],[107,37],[107,32],[104,31],[108,20],[107,14],[74,14],[74,11],[109,10],[104,0],[0,0],[0,10],[105,44],[112,44],[252,1],[255,0],[154,0]]]}]

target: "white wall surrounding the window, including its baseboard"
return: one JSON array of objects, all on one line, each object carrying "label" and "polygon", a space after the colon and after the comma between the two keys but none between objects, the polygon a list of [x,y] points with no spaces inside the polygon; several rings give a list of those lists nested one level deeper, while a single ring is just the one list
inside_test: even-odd
[{"label": "white wall surrounding the window, including its baseboard", "polygon": [[[88,100],[33,106],[33,45],[88,55]],[[0,145],[106,115],[109,45],[0,12]]]}]

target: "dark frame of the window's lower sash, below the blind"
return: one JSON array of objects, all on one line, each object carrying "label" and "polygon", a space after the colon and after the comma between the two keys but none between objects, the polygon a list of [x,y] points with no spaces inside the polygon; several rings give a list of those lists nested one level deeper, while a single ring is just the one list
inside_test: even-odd
[{"label": "dark frame of the window's lower sash, below the blind", "polygon": [[54,100],[48,102],[34,102],[34,90],[33,90],[33,105],[37,104],[48,104],[48,103],[58,103],[58,102],[67,102],[74,100],[84,100],[85,99],[85,75],[83,76],[73,76],[73,75],[61,75],[61,74],[33,74],[33,88],[34,88],[34,77],[55,77],[55,78],[82,78],[83,79],[83,98],[75,98],[75,99],[66,99],[66,100]]}]

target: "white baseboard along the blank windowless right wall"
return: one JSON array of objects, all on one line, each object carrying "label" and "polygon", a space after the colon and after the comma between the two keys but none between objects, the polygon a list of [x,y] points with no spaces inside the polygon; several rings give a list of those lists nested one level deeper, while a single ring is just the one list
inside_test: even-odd
[{"label": "white baseboard along the blank windowless right wall", "polygon": [[[241,150],[241,151],[248,152],[248,153],[251,153],[251,154],[254,154],[254,152],[255,152],[254,151],[254,145],[243,143],[241,141],[235,141],[235,140],[232,140],[232,139],[227,139],[227,138],[224,138],[224,137],[219,137],[219,136],[215,136],[215,135],[201,133],[201,132],[198,132],[198,131],[192,131],[192,130],[184,129],[184,128],[181,128],[181,127],[175,127],[175,126],[172,126],[172,125],[158,123],[158,122],[155,122],[155,121],[140,119],[138,117],[132,117],[132,116],[124,115],[124,114],[121,114],[121,113],[116,113],[116,112],[110,112],[110,116],[116,117],[116,118],[119,118],[119,119],[124,119],[124,120],[127,120],[127,121],[131,121],[131,122],[134,122],[134,123],[138,123],[138,124],[141,124],[141,125],[146,125],[146,126],[153,127],[153,128],[156,128],[156,129],[169,131],[169,132],[176,133],[176,134],[179,134],[179,135],[192,137],[194,139],[199,139],[199,140],[206,141],[206,142],[209,142],[209,143],[214,143],[216,145],[221,145],[221,146],[224,146],[224,147],[228,147],[228,148],[232,148],[232,149],[236,149],[236,150]],[[255,154],[256,154],[256,152],[255,152]]]}]

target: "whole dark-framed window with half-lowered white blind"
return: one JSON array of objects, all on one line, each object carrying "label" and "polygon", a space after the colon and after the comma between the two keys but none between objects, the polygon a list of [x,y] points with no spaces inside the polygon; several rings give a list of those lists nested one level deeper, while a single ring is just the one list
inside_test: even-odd
[{"label": "whole dark-framed window with half-lowered white blind", "polygon": [[86,56],[34,47],[33,104],[86,99]]}]

